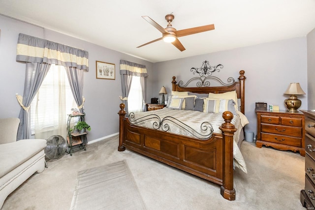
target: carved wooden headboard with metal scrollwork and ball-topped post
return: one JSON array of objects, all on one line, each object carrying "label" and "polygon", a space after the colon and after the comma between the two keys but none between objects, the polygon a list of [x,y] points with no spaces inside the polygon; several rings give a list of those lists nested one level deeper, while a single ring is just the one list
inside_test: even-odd
[{"label": "carved wooden headboard with metal scrollwork and ball-topped post", "polygon": [[[183,84],[183,81],[180,81],[178,84],[176,84],[176,77],[173,77],[172,81],[172,90],[173,91],[189,91],[189,92],[195,92],[195,93],[223,93],[228,91],[236,90],[237,97],[241,99],[241,112],[245,114],[245,79],[244,76],[245,71],[240,71],[240,76],[238,77],[238,82],[235,82],[233,78],[228,78],[228,83],[223,83],[221,79],[214,76],[208,76],[208,77],[194,77],[190,79],[185,85]],[[220,87],[208,87],[210,85],[209,80],[215,80],[222,84]],[[187,87],[190,82],[192,81],[198,81],[197,87]],[[205,87],[203,87],[205,86]]]}]

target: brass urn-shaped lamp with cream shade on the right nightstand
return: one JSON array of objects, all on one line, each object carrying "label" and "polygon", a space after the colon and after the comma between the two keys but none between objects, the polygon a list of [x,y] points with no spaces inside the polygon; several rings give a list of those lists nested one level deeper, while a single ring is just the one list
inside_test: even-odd
[{"label": "brass urn-shaped lamp with cream shade on the right nightstand", "polygon": [[290,83],[284,94],[290,95],[289,98],[284,100],[284,106],[289,112],[297,112],[297,109],[300,108],[302,102],[300,99],[297,99],[296,95],[306,94],[302,90],[300,83]]}]

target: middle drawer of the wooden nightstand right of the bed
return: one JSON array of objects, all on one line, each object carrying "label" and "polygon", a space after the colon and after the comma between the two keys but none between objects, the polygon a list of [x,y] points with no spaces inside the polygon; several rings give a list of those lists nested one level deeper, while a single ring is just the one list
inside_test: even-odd
[{"label": "middle drawer of the wooden nightstand right of the bed", "polygon": [[282,125],[261,124],[261,132],[286,135],[292,137],[302,137],[302,127],[288,127]]}]

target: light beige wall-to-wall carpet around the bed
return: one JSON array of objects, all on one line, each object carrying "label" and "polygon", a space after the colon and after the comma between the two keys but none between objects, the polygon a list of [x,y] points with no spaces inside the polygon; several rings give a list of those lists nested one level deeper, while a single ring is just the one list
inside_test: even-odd
[{"label": "light beige wall-to-wall carpet around the bed", "polygon": [[117,147],[114,136],[87,145],[87,151],[48,161],[48,169],[11,193],[2,210],[69,210],[79,171],[124,159],[148,210],[305,210],[300,203],[305,158],[299,153],[243,141],[240,150],[248,174],[234,171],[236,200],[227,201],[217,184]]}]

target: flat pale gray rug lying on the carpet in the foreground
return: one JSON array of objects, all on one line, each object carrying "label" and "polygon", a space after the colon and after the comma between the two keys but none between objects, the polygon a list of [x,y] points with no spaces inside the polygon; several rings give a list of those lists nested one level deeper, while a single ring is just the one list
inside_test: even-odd
[{"label": "flat pale gray rug lying on the carpet in the foreground", "polygon": [[126,160],[78,172],[70,210],[145,210]]}]

